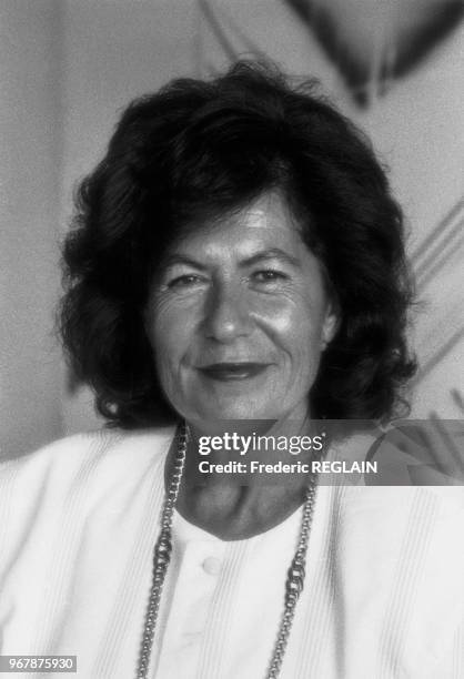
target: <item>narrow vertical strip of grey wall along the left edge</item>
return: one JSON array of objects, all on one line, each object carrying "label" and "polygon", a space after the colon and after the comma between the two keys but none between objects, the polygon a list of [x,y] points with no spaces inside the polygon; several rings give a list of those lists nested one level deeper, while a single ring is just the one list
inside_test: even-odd
[{"label": "narrow vertical strip of grey wall along the left edge", "polygon": [[57,298],[60,17],[52,1],[0,6],[0,455],[63,430]]}]

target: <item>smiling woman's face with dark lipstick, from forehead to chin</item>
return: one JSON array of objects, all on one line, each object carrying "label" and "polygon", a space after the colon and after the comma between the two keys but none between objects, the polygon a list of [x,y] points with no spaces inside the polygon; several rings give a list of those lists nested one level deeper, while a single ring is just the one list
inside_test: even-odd
[{"label": "smiling woman's face with dark lipstick, from forehead to chin", "polygon": [[145,324],[186,420],[300,419],[336,317],[317,260],[269,193],[169,251]]}]

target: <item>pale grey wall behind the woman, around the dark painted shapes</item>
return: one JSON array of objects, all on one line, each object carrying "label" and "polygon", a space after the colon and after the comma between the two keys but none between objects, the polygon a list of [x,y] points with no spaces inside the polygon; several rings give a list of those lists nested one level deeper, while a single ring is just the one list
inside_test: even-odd
[{"label": "pale grey wall behind the woman, around the dark painted shapes", "polygon": [[[370,133],[392,168],[413,249],[463,194],[464,24],[410,77],[356,110],[317,43],[280,0],[216,0],[216,8],[286,70],[319,77]],[[170,78],[226,64],[195,0],[0,0],[0,429],[3,455],[95,426],[91,395],[63,389],[50,337],[58,295],[57,236],[72,189],[101,156],[118,113]],[[240,44],[235,45],[241,49]],[[423,363],[462,317],[461,260],[422,291]],[[463,345],[418,385],[416,416],[462,416]]]}]

